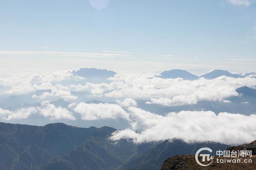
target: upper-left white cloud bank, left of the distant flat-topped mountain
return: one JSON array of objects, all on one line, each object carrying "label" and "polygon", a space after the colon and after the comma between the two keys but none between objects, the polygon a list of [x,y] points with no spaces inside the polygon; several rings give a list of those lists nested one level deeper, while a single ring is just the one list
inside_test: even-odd
[{"label": "upper-left white cloud bank, left of the distant flat-topped mountain", "polygon": [[66,100],[77,99],[72,95],[69,86],[55,84],[63,80],[80,80],[79,76],[74,76],[68,71],[58,71],[50,74],[30,74],[30,75],[11,75],[8,78],[0,78],[0,85],[11,86],[6,94],[27,94],[36,90],[52,90],[52,92],[44,92],[42,95],[33,95],[33,98],[46,99],[49,96],[56,96]]}]

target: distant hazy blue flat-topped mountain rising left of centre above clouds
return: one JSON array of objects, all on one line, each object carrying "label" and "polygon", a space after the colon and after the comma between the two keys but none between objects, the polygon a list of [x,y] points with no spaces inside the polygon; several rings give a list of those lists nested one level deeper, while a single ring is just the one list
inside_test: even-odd
[{"label": "distant hazy blue flat-topped mountain rising left of centre above clouds", "polygon": [[97,68],[80,68],[77,71],[73,70],[72,74],[78,75],[84,78],[88,78],[88,77],[109,78],[109,77],[113,77],[117,73],[114,71],[106,70],[106,69],[102,70]]}]

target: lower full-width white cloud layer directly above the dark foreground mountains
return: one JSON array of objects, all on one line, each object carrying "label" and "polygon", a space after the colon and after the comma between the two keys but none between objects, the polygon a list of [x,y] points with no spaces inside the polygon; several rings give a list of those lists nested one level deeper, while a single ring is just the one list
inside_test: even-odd
[{"label": "lower full-width white cloud layer directly above the dark foreground mountains", "polygon": [[68,108],[56,107],[44,101],[38,107],[18,108],[14,111],[0,108],[4,120],[26,119],[40,115],[49,119],[81,120],[123,119],[129,128],[115,131],[113,141],[132,139],[135,143],[182,139],[185,142],[214,141],[237,145],[256,138],[256,114],[242,115],[212,111],[180,111],[158,115],[136,107],[133,99],[117,100],[116,103],[69,104]]}]

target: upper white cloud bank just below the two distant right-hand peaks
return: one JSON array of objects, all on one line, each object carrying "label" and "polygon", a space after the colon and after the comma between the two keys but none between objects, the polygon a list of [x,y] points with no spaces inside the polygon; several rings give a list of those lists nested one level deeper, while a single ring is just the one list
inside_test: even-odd
[{"label": "upper white cloud bank just below the two distant right-hand peaks", "polygon": [[165,106],[196,104],[198,101],[222,101],[225,98],[238,96],[236,89],[242,86],[255,87],[256,79],[231,78],[221,76],[216,79],[198,80],[149,78],[148,75],[116,75],[111,78],[124,82],[123,88],[112,89],[104,94],[112,98],[144,98],[151,99],[148,104],[156,103]]}]

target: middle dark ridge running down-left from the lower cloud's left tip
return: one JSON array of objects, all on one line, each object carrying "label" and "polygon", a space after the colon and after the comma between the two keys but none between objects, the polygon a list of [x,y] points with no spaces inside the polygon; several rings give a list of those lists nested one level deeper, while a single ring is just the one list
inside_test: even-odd
[{"label": "middle dark ridge running down-left from the lower cloud's left tip", "polygon": [[[72,151],[67,157],[60,160],[54,159],[43,170],[53,170],[56,164],[68,165],[71,163],[77,170],[112,170],[120,166],[135,151],[132,142],[121,140],[113,142],[108,137],[116,129],[102,127],[91,133],[90,137],[83,143],[82,147]],[[69,162],[67,164],[66,162]]]}]

